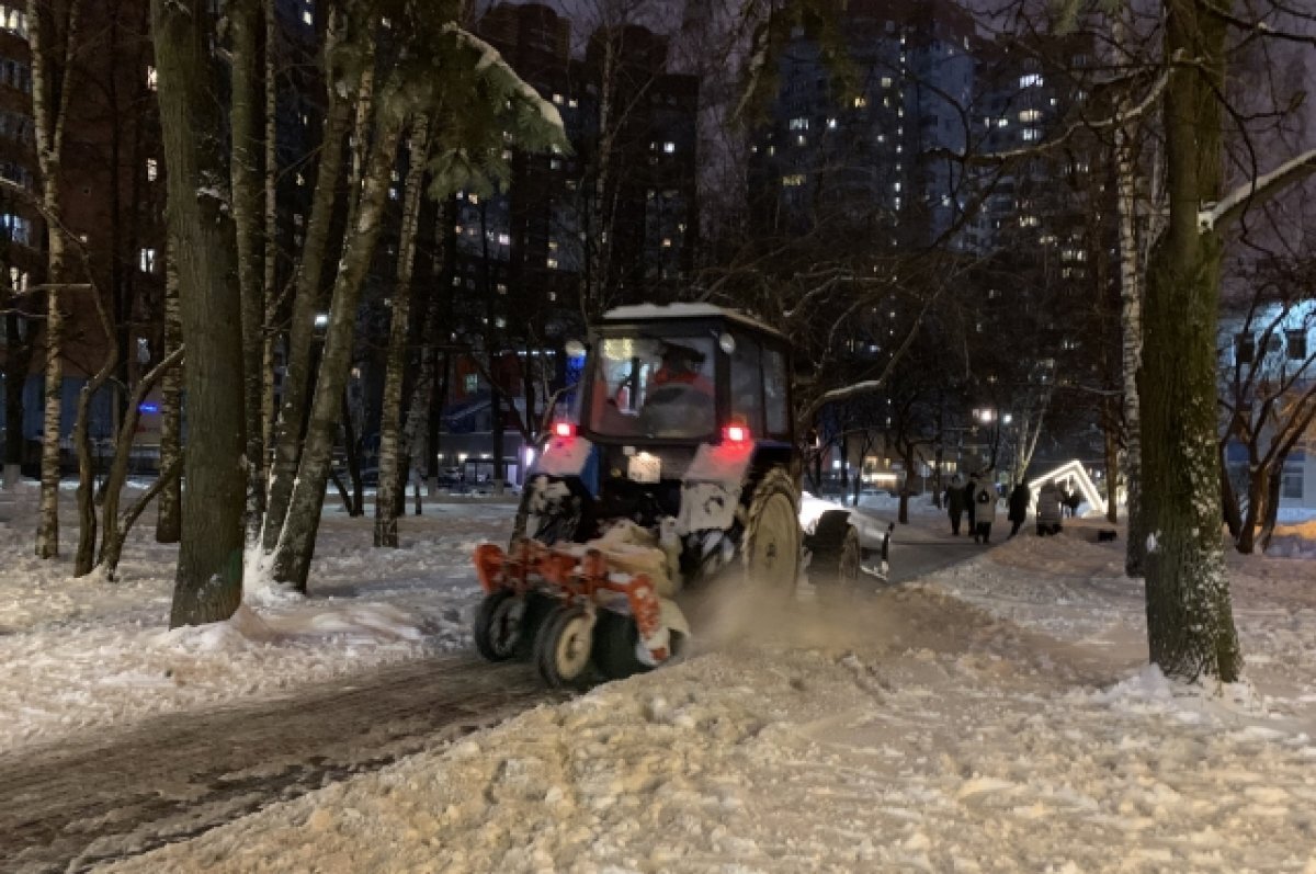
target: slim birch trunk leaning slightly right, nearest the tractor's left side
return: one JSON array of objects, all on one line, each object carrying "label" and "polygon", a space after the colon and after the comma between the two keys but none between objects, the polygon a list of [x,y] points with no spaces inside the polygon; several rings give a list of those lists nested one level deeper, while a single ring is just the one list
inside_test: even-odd
[{"label": "slim birch trunk leaning slightly right, nearest the tractor's left side", "polygon": [[397,286],[393,290],[388,322],[388,362],[384,374],[384,401],[379,425],[379,492],[375,496],[375,546],[397,546],[397,491],[405,486],[399,470],[399,430],[401,428],[403,369],[411,334],[412,270],[416,263],[416,234],[420,225],[420,199],[429,155],[429,118],[417,116],[412,125],[411,165],[403,200],[401,240],[397,246]]}]

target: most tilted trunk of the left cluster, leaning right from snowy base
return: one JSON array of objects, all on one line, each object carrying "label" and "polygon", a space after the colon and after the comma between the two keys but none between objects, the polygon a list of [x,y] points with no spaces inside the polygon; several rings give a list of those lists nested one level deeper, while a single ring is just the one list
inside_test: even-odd
[{"label": "most tilted trunk of the left cluster, leaning right from snowy base", "polygon": [[287,520],[274,553],[275,582],[299,592],[307,590],[307,573],[320,527],[320,509],[324,504],[329,461],[333,455],[333,436],[338,426],[342,394],[351,366],[357,301],[379,237],[390,172],[401,138],[403,120],[397,115],[397,108],[391,105],[393,97],[392,93],[382,97],[383,105],[379,112],[382,118],[362,179],[359,207],[353,211],[354,222],[345,237],[346,247],[334,282],[324,358],[320,362],[320,378],[316,382],[305,446],[297,465]]}]

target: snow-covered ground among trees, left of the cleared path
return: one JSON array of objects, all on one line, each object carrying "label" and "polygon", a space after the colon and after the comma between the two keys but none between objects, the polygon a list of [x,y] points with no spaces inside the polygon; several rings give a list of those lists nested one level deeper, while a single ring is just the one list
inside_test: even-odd
[{"label": "snow-covered ground among trees, left of the cleared path", "polygon": [[[20,495],[20,503],[32,495]],[[134,532],[122,580],[71,577],[71,558],[0,544],[0,742],[13,750],[151,713],[288,694],[371,666],[465,649],[479,599],[470,557],[511,529],[508,504],[437,504],[370,548],[372,520],[329,513],[309,598],[253,599],[226,623],[168,630],[175,546]],[[76,541],[63,528],[64,549]]]}]

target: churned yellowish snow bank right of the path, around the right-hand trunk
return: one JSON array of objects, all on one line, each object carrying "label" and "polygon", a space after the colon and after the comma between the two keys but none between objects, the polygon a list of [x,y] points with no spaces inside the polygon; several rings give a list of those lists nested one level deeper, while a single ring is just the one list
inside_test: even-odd
[{"label": "churned yellowish snow bank right of the path, around the right-hand trunk", "polygon": [[114,870],[1316,873],[1309,567],[1240,562],[1254,686],[1204,696],[1144,667],[1119,549],[759,602],[751,638]]}]

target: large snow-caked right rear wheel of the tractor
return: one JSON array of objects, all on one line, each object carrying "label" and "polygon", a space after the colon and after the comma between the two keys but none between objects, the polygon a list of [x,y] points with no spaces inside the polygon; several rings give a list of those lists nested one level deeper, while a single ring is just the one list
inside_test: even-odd
[{"label": "large snow-caked right rear wheel of the tractor", "polygon": [[800,571],[800,498],[790,474],[763,474],[749,503],[741,557],[750,584],[791,596]]}]

